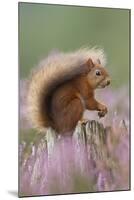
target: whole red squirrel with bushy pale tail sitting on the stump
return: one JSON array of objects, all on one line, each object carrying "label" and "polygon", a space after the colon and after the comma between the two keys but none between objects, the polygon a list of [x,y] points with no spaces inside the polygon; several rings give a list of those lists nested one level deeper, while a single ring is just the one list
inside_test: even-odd
[{"label": "whole red squirrel with bushy pale tail sitting on the stump", "polygon": [[104,117],[107,107],[95,99],[94,91],[110,84],[105,60],[104,52],[95,48],[48,56],[29,80],[28,114],[33,126],[72,134],[86,109]]}]

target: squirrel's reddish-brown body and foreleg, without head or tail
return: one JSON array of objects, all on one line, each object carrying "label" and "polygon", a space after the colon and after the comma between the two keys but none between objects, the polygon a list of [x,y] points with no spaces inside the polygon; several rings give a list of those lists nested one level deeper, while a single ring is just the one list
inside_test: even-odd
[{"label": "squirrel's reddish-brown body and foreleg, without head or tail", "polygon": [[87,76],[81,75],[54,92],[51,102],[51,126],[58,133],[68,133],[82,119],[85,109],[101,111],[106,108],[95,100],[94,89],[89,85]]}]

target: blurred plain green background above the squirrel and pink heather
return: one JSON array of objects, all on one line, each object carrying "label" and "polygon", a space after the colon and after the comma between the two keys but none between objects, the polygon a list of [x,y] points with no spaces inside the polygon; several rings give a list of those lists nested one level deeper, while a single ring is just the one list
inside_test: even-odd
[{"label": "blurred plain green background above the squirrel and pink heather", "polygon": [[102,47],[112,87],[129,82],[129,10],[19,3],[20,78],[54,49]]}]

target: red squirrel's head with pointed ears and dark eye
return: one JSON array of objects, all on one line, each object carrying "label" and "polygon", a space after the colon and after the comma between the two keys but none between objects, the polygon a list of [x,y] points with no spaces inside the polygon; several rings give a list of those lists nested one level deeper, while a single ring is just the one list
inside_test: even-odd
[{"label": "red squirrel's head with pointed ears and dark eye", "polygon": [[89,67],[88,82],[93,89],[104,88],[110,84],[110,76],[105,68],[102,67],[99,59],[94,64],[92,59],[89,58],[86,64]]}]

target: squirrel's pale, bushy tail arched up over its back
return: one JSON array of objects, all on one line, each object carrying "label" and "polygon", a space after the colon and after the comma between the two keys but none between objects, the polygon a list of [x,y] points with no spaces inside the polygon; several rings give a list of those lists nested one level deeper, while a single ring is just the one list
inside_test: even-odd
[{"label": "squirrel's pale, bushy tail arched up over its back", "polygon": [[105,56],[100,49],[80,49],[73,53],[56,53],[42,61],[32,73],[28,87],[28,116],[33,126],[42,131],[51,126],[49,104],[57,87],[75,76],[87,73],[86,61],[99,59],[105,65]]}]

